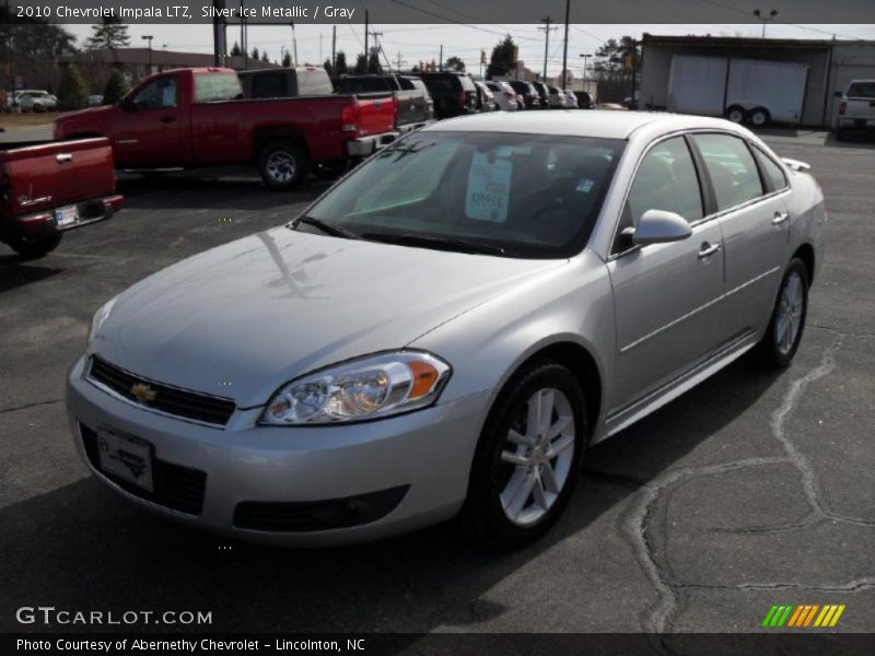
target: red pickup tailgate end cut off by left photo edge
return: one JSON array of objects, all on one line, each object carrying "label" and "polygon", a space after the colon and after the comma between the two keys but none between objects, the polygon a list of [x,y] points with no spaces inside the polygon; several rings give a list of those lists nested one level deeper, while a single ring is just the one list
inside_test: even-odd
[{"label": "red pickup tailgate end cut off by left photo edge", "polygon": [[107,139],[3,144],[0,242],[25,258],[54,250],[65,232],[121,209]]}]

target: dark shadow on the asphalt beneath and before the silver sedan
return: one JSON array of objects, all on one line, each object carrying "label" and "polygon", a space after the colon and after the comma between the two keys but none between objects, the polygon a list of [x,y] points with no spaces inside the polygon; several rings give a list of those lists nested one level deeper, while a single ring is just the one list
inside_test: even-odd
[{"label": "dark shadow on the asphalt beneath and before the silver sedan", "polygon": [[[37,601],[119,616],[132,609],[212,612],[209,626],[174,631],[416,633],[481,623],[509,610],[483,598],[491,588],[563,541],[580,540],[599,516],[745,412],[777,375],[742,359],[593,447],[560,522],[515,550],[459,540],[452,524],[343,548],[252,546],[165,522],[86,478],[0,509],[0,579],[10,605],[0,613],[0,631],[22,631],[14,609]],[[60,629],[107,626],[54,628]]]}]

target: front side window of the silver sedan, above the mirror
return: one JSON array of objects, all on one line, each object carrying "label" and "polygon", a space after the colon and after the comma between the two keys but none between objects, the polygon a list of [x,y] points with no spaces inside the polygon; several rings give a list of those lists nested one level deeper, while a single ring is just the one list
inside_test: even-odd
[{"label": "front side window of the silver sedan, above the mirror", "polygon": [[638,225],[648,210],[675,212],[690,223],[703,215],[699,179],[682,137],[657,143],[638,167],[623,212],[626,222]]}]

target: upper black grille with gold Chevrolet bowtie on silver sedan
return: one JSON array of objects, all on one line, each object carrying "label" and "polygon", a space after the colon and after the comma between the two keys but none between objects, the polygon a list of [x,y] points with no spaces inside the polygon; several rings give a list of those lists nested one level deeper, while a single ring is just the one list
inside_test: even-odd
[{"label": "upper black grille with gold Chevrolet bowtie on silver sedan", "polygon": [[[148,378],[141,378],[114,364],[109,364],[96,355],[91,359],[89,378],[143,408],[153,408],[167,414],[192,419],[217,426],[225,425],[236,409],[234,401],[231,399],[188,391],[155,383]],[[135,396],[133,388],[137,385],[145,386],[153,391],[153,400],[143,401]]]}]

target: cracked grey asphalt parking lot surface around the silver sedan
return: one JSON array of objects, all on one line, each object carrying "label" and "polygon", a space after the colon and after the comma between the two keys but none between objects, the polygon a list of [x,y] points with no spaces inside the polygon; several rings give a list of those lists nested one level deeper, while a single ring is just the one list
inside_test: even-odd
[{"label": "cracked grey asphalt parking lot surface around the silver sedan", "polygon": [[742,359],[593,448],[565,516],[514,552],[447,527],[320,551],[220,541],[80,464],[63,378],[93,312],[283,223],[323,184],[282,195],[246,175],[122,176],[112,222],[33,262],[0,246],[0,631],[38,604],[207,610],[199,629],[228,632],[749,632],[774,604],[841,604],[837,631],[875,631],[875,143],[766,139],[813,165],[830,213],[794,364]]}]

